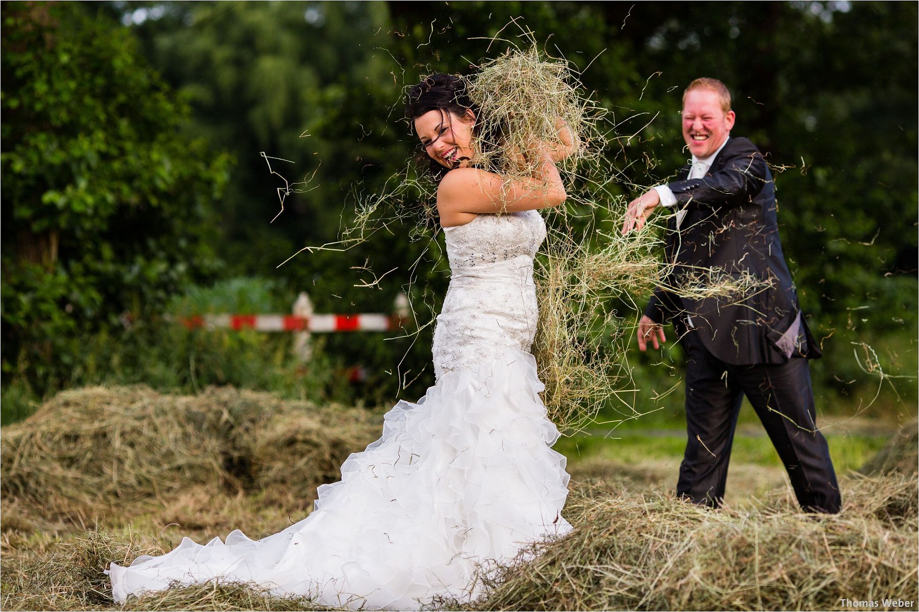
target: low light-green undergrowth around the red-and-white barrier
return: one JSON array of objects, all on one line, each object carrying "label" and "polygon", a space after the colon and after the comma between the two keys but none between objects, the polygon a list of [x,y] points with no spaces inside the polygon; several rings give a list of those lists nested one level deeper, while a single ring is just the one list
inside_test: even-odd
[{"label": "low light-green undergrowth around the red-and-white barrier", "polygon": [[[258,278],[231,278],[211,286],[191,285],[165,307],[172,317],[209,312],[289,312],[291,302],[277,285]],[[127,328],[73,334],[58,346],[70,357],[62,387],[146,384],[162,392],[197,393],[209,385],[271,391],[287,399],[316,403],[354,402],[341,360],[329,358],[325,339],[313,336],[313,355],[293,355],[293,335],[251,329],[188,329],[177,320],[153,317]],[[2,422],[28,417],[46,389],[28,376],[14,376],[2,397]]]}]

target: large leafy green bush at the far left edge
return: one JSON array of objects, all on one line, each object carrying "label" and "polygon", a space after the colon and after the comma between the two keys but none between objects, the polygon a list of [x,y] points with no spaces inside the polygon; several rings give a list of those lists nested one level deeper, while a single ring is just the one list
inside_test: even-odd
[{"label": "large leafy green bush at the far left edge", "polygon": [[22,3],[3,20],[3,372],[43,394],[76,339],[215,271],[228,159],[183,135],[187,106],[107,18]]}]

